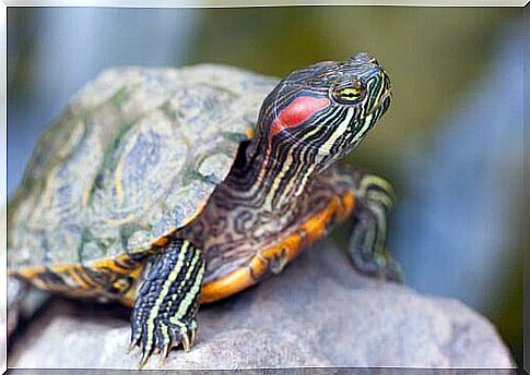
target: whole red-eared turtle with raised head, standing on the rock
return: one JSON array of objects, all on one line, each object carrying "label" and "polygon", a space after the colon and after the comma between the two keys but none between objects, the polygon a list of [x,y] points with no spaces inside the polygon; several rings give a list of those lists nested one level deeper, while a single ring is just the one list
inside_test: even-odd
[{"label": "whole red-eared turtle with raised head, standing on the rock", "polygon": [[9,202],[9,279],[131,307],[140,366],[190,350],[200,304],[279,274],[346,219],[355,268],[399,281],[391,184],[337,162],[391,98],[368,52],[283,80],[221,64],[105,70],[40,136]]}]

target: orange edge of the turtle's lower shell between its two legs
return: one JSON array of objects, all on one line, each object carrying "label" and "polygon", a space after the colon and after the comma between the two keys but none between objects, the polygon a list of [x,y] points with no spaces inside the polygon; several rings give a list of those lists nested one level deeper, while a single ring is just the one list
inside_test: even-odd
[{"label": "orange edge of the turtle's lower shell between its two legs", "polygon": [[[266,276],[269,269],[269,265],[263,258],[270,259],[282,256],[282,252],[286,251],[283,256],[287,263],[291,262],[301,253],[304,245],[326,234],[326,223],[333,217],[344,220],[350,216],[354,203],[355,198],[350,192],[334,196],[326,208],[303,222],[296,233],[286,237],[278,245],[263,250],[259,255],[254,256],[249,264],[235,269],[221,279],[204,283],[201,288],[200,302],[215,302],[255,285]],[[304,238],[301,235],[302,232],[305,232]]]}]

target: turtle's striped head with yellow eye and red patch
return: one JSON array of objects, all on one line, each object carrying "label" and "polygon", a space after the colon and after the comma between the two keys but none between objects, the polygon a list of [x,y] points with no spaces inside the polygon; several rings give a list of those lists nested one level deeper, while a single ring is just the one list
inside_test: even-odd
[{"label": "turtle's striped head with yellow eye and red patch", "polygon": [[258,130],[271,157],[298,150],[323,169],[364,140],[390,106],[390,90],[369,53],[319,62],[278,84],[263,101]]}]

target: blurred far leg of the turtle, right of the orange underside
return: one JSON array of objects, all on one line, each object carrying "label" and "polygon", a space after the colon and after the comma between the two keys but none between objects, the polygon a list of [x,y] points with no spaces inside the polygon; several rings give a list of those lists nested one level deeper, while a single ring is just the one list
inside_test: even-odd
[{"label": "blurred far leg of the turtle, right of the orange underside", "polygon": [[386,247],[387,218],[396,201],[393,190],[379,177],[356,177],[350,257],[363,274],[401,282],[401,267]]}]

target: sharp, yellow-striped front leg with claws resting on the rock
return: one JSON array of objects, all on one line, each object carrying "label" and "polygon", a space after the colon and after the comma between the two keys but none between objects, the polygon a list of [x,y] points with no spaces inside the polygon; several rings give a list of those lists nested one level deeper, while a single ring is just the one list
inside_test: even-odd
[{"label": "sharp, yellow-striped front leg with claws resting on the rock", "polygon": [[195,342],[204,259],[186,240],[173,239],[154,257],[139,288],[131,316],[131,348],[142,350],[140,366],[153,351],[161,358],[179,343],[188,351]]}]

